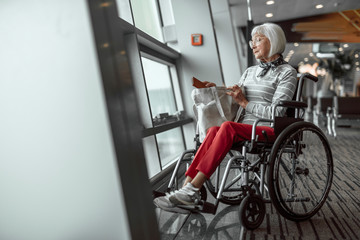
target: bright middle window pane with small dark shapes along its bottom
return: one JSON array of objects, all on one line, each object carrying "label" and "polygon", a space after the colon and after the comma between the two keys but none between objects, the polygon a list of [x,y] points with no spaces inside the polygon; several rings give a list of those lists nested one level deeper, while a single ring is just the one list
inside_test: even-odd
[{"label": "bright middle window pane with small dark shapes along its bottom", "polygon": [[[171,115],[177,111],[174,92],[171,85],[169,67],[142,57],[145,81],[150,99],[154,125],[177,120]],[[170,116],[166,116],[166,113]],[[159,114],[162,114],[161,116]],[[163,115],[165,114],[165,115]]]}]

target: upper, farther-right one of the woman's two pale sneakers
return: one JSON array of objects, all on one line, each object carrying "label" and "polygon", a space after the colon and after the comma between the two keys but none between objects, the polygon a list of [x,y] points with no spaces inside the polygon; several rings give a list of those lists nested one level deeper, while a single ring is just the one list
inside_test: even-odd
[{"label": "upper, farther-right one of the woman's two pale sneakers", "polygon": [[175,205],[198,205],[200,193],[198,188],[195,188],[191,183],[188,183],[180,190],[170,193],[168,198],[170,202]]}]

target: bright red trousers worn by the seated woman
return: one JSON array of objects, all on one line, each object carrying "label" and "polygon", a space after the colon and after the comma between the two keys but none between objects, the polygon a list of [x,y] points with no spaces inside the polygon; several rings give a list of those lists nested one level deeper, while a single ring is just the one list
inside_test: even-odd
[{"label": "bright red trousers worn by the seated woman", "polygon": [[[259,141],[265,141],[263,130],[269,141],[275,140],[273,128],[258,126],[256,135]],[[193,179],[200,171],[210,178],[235,143],[251,139],[251,131],[252,125],[236,122],[224,122],[220,127],[209,128],[185,175]]]}]

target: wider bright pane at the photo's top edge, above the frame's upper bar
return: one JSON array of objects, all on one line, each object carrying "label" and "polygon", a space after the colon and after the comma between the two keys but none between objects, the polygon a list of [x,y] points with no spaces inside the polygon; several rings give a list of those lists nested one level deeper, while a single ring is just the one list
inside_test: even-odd
[{"label": "wider bright pane at the photo's top edge, above the frame's upper bar", "polygon": [[159,11],[154,0],[131,0],[135,26],[163,42]]}]

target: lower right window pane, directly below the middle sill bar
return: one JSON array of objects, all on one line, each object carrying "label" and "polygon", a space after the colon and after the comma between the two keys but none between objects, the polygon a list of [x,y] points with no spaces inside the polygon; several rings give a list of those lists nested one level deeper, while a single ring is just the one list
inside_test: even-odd
[{"label": "lower right window pane, directly below the middle sill bar", "polygon": [[176,157],[184,151],[181,128],[175,128],[156,135],[162,168],[174,162]]}]

